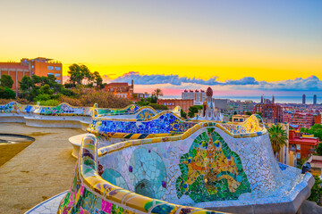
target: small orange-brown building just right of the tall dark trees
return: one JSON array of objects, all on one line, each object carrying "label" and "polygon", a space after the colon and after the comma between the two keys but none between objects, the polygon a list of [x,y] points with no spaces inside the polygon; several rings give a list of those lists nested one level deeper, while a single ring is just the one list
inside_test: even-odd
[{"label": "small orange-brown building just right of the tall dark trees", "polygon": [[131,80],[131,85],[128,83],[109,83],[104,87],[104,90],[118,97],[132,99],[134,91],[133,80]]}]

